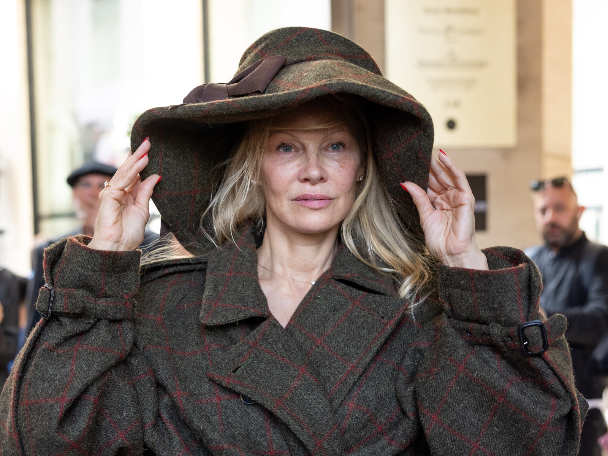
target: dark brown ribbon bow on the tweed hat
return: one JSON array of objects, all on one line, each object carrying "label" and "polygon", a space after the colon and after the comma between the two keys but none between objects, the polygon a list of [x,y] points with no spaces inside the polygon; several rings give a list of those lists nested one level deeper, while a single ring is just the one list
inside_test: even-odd
[{"label": "dark brown ribbon bow on the tweed hat", "polygon": [[262,94],[274,75],[285,63],[283,55],[273,55],[250,64],[227,84],[210,82],[195,87],[184,98],[184,103],[206,103],[226,100],[235,95]]}]

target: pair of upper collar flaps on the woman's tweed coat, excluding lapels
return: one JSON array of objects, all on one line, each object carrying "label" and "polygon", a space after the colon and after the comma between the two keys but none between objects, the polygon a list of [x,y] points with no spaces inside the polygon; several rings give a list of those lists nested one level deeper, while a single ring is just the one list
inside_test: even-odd
[{"label": "pair of upper collar flaps on the woman's tweed coat, excluding lapels", "polygon": [[[268,302],[258,282],[257,247],[251,227],[240,230],[235,243],[219,249],[207,263],[199,322],[205,326],[225,325],[270,316]],[[395,284],[340,245],[330,269],[313,287],[337,280],[362,291],[395,297]]]}]

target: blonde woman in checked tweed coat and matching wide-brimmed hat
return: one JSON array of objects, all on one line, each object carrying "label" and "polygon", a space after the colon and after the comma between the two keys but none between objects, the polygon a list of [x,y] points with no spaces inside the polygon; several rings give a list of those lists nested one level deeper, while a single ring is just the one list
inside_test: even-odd
[{"label": "blonde woman in checked tweed coat and matching wide-brimmed hat", "polygon": [[[295,27],[144,113],[94,237],[46,252],[3,454],[575,455],[565,319],[477,248],[432,136],[364,50]],[[192,254],[140,276],[153,194]]]}]

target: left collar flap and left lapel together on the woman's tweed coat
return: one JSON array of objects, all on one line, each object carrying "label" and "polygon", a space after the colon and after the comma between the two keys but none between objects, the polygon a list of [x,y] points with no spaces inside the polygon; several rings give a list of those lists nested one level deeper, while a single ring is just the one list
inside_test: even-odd
[{"label": "left collar flap and left lapel together on the woman's tweed coat", "polygon": [[207,376],[274,413],[311,454],[341,454],[339,430],[323,385],[297,342],[270,316],[257,278],[254,238],[246,231],[236,246],[209,260],[199,321],[210,327],[252,318],[264,321],[214,356]]}]

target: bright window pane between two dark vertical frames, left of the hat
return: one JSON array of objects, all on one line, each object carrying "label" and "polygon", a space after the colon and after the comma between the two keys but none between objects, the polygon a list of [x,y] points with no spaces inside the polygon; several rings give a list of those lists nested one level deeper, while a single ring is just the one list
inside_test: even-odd
[{"label": "bright window pane between two dark vertical frames, left of the hat", "polygon": [[67,175],[119,165],[130,127],[203,80],[201,0],[32,0],[39,232],[78,226]]}]

